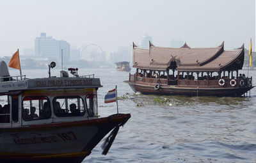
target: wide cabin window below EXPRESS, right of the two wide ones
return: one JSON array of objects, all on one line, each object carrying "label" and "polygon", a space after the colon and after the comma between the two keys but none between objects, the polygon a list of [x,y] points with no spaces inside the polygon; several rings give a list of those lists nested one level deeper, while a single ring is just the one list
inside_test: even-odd
[{"label": "wide cabin window below EXPRESS, right of the two wide ones", "polygon": [[81,97],[56,97],[53,100],[56,116],[83,116],[84,103]]}]

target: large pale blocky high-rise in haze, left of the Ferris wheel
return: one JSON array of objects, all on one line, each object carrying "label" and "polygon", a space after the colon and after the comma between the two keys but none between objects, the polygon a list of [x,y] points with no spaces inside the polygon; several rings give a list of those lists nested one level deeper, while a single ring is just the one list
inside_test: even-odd
[{"label": "large pale blocky high-rise in haze, left of the Ferris wheel", "polygon": [[69,61],[70,44],[63,40],[55,40],[46,33],[41,33],[35,39],[35,55],[48,58],[49,60],[61,61],[61,49],[63,51],[63,62]]}]

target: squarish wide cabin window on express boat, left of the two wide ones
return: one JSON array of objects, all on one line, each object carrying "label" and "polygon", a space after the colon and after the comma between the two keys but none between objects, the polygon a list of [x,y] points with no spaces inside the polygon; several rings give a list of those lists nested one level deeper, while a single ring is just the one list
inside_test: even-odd
[{"label": "squarish wide cabin window on express boat, left of the two wide ones", "polygon": [[51,118],[51,105],[47,97],[25,97],[22,104],[22,118],[25,121]]}]

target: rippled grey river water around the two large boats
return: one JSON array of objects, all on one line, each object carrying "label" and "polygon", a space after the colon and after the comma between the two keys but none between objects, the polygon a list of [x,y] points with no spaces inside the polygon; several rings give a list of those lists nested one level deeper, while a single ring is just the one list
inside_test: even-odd
[{"label": "rippled grey river water around the two large boats", "polygon": [[[52,75],[59,72],[53,69]],[[23,70],[23,74],[48,75],[47,70]],[[161,97],[137,95],[123,82],[129,73],[115,68],[83,69],[79,74],[100,78],[101,117],[116,113],[116,103],[104,104],[104,95],[115,85],[118,97],[123,97],[118,100],[119,113],[131,113],[108,155],[101,155],[101,141],[83,162],[256,162],[256,88],[251,97],[243,98]],[[249,76],[255,86],[256,71]]]}]

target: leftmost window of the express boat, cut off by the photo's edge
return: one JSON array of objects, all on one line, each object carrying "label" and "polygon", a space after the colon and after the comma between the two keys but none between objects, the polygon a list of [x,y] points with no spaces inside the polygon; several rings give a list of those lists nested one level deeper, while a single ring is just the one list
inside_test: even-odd
[{"label": "leftmost window of the express boat, cut off by the photo's edge", "polygon": [[0,123],[10,123],[10,103],[8,96],[0,96]]}]

